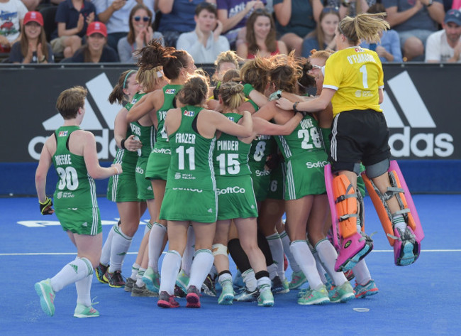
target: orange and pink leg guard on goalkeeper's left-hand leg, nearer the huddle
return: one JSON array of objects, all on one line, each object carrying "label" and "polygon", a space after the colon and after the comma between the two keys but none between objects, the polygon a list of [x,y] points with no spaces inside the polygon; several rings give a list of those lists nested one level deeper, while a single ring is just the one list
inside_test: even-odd
[{"label": "orange and pink leg guard on goalkeeper's left-hand leg, nearer the huddle", "polygon": [[[363,210],[362,197],[357,197],[345,175],[333,178],[330,165],[325,166],[325,183],[331,210],[333,246],[338,250],[335,271],[348,271],[373,249],[373,241],[363,229],[357,232],[357,217]],[[361,203],[360,207],[358,203]]]}]

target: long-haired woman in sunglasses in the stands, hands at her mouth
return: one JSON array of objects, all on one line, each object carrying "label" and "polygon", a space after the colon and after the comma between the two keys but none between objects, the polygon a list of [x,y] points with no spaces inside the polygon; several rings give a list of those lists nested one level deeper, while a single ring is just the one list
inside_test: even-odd
[{"label": "long-haired woman in sunglasses in the stands, hands at her mouth", "polygon": [[152,11],[144,4],[133,7],[128,24],[128,36],[118,40],[117,44],[121,63],[135,63],[138,60],[135,51],[145,47],[152,38],[159,40],[163,45],[162,33],[152,30]]}]

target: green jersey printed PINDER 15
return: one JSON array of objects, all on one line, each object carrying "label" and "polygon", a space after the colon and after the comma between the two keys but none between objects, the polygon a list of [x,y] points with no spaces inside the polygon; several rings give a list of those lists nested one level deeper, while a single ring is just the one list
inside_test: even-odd
[{"label": "green jersey printed PINDER 15", "polygon": [[[237,123],[242,115],[237,113],[225,113],[230,121]],[[216,140],[216,149],[213,153],[213,165],[216,176],[243,176],[251,175],[248,166],[248,154],[251,143],[240,141],[237,136],[223,133]]]}]

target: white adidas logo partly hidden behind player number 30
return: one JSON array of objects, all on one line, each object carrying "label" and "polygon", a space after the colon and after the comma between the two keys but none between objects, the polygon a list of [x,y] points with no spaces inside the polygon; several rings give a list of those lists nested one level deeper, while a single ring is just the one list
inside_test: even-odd
[{"label": "white adidas logo partly hidden behind player number 30", "polygon": [[[121,105],[113,104],[111,105],[107,101],[107,97],[113,90],[109,78],[103,72],[101,75],[94,77],[85,83],[85,86],[88,89],[89,94],[93,97],[94,103],[96,104],[96,110],[99,110],[99,113],[104,118],[106,125],[109,126],[110,130],[113,130],[113,122],[115,121],[117,112],[121,109]],[[43,121],[43,128],[46,131],[55,131],[62,125],[62,116],[60,114],[55,114],[51,118]],[[82,129],[87,131],[101,131],[101,136],[96,136],[96,143],[99,143],[98,158],[108,159],[109,152],[112,157],[116,156],[116,142],[115,139],[109,141],[109,129],[104,128],[101,125],[101,122],[96,116],[95,109],[91,107],[88,99],[85,99],[85,117],[82,121]],[[37,152],[35,146],[38,143],[45,143],[45,136],[35,136],[29,141],[28,152],[29,155],[38,160],[40,158],[40,152]]]}]

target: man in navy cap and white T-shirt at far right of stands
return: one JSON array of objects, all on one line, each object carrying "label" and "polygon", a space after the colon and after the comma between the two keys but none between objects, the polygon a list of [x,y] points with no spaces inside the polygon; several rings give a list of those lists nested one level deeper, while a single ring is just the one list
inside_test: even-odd
[{"label": "man in navy cap and white T-shirt at far right of stands", "polygon": [[461,63],[461,12],[450,9],[445,14],[442,27],[428,37],[426,62]]}]

